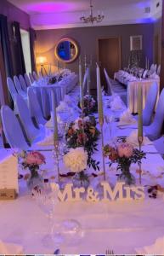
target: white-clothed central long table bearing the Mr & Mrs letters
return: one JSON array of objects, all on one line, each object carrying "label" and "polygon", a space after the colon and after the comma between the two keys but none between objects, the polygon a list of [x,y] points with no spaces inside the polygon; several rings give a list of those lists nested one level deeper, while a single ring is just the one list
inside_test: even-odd
[{"label": "white-clothed central long table bearing the Mr & Mrs letters", "polygon": [[[105,109],[105,113],[109,109]],[[120,112],[112,112],[118,116]],[[105,143],[110,140],[109,127],[105,125]],[[124,136],[133,130],[120,129],[117,122],[113,123],[113,135]],[[100,140],[99,146],[100,148]],[[147,154],[143,160],[142,183],[143,185],[164,186],[164,161],[157,154],[153,143],[143,146]],[[54,175],[52,152],[42,152],[46,156],[46,166],[42,167],[47,176]],[[93,157],[100,160],[101,154],[95,153]],[[107,160],[105,161],[107,162]],[[139,183],[138,166],[133,165],[132,172]],[[107,179],[116,183],[116,168],[105,165]],[[60,172],[65,172],[65,166],[60,162]],[[93,170],[88,170],[93,172]],[[100,175],[93,179],[94,185],[102,180]],[[146,191],[147,187],[145,187]],[[48,218],[32,199],[26,189],[24,180],[20,180],[20,195],[14,201],[0,201],[0,240],[18,243],[23,246],[25,254],[54,253],[59,248],[62,254],[105,254],[106,250],[113,250],[116,254],[134,254],[136,249],[153,244],[160,236],[164,236],[164,197],[149,198],[146,193],[144,201],[109,201],[108,203],[59,202],[55,209],[54,222],[64,219],[75,219],[82,226],[82,237],[76,241],[75,237],[67,237],[59,246],[44,247],[42,236],[48,231]],[[139,252],[144,252],[141,249]],[[14,252],[13,252],[14,253]],[[151,252],[151,254],[156,252]]]}]

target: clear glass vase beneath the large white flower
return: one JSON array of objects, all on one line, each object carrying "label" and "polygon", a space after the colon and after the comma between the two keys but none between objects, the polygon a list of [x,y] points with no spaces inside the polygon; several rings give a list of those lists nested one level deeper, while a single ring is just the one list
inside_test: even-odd
[{"label": "clear glass vase beneath the large white flower", "polygon": [[84,171],[76,172],[76,174],[72,178],[72,182],[74,187],[76,188],[84,187],[85,189],[88,189],[89,179],[88,175]]}]

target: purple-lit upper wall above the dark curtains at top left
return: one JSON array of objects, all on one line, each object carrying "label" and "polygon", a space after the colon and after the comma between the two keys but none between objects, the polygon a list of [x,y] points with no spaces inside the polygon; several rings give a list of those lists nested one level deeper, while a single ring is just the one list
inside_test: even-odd
[{"label": "purple-lit upper wall above the dark curtains at top left", "polygon": [[25,30],[31,26],[29,15],[6,0],[0,0],[0,14],[7,16],[9,22],[20,22],[20,27]]}]

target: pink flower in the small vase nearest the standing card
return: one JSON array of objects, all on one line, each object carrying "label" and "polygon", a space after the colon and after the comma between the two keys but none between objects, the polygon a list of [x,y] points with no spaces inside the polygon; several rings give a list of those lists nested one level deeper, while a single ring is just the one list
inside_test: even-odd
[{"label": "pink flower in the small vase nearest the standing card", "polygon": [[42,165],[45,163],[45,157],[37,151],[30,152],[26,155],[25,164],[27,165]]}]

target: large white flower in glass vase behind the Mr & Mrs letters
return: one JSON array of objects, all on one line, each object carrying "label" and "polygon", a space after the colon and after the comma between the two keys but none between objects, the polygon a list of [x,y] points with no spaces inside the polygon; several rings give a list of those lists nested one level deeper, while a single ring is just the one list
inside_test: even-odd
[{"label": "large white flower in glass vase behind the Mr & Mrs letters", "polygon": [[64,155],[65,166],[75,172],[73,183],[76,187],[88,187],[88,175],[84,172],[88,165],[88,153],[84,148],[71,148],[70,151]]}]

